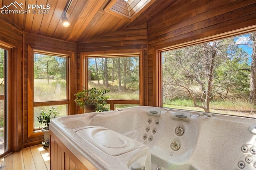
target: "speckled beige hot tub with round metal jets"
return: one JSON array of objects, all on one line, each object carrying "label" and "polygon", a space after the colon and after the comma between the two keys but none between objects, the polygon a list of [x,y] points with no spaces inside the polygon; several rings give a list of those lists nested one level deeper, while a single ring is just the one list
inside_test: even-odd
[{"label": "speckled beige hot tub with round metal jets", "polygon": [[256,169],[252,118],[138,106],[56,118],[50,131],[88,169]]}]

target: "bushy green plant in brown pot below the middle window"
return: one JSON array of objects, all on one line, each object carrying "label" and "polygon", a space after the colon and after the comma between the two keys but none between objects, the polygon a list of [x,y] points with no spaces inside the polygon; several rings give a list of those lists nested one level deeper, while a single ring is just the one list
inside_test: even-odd
[{"label": "bushy green plant in brown pot below the middle window", "polygon": [[74,102],[80,106],[81,108],[85,109],[85,113],[89,112],[102,112],[108,111],[106,93],[110,92],[108,89],[96,89],[93,87],[92,89],[85,89],[76,93],[76,99]]}]

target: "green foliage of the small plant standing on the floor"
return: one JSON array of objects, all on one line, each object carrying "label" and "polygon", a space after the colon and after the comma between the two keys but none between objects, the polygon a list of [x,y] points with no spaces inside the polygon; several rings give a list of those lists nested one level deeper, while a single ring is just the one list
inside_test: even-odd
[{"label": "green foliage of the small plant standing on the floor", "polygon": [[55,108],[48,109],[48,112],[41,110],[40,115],[37,117],[37,121],[46,126],[45,130],[49,130],[49,123],[51,119],[56,118],[58,112],[54,110]]}]

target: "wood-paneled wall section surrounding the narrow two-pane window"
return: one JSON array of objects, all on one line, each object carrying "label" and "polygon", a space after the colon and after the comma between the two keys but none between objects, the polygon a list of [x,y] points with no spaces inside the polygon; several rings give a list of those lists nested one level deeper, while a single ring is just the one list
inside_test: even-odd
[{"label": "wood-paneled wall section surrounding the narrow two-pane window", "polygon": [[[34,49],[39,49],[39,50],[44,50],[44,51],[50,51],[50,52],[56,52],[56,53],[61,53],[61,51],[69,51],[69,52],[74,52],[76,56],[76,43],[72,42],[66,42],[62,40],[57,40],[53,38],[46,38],[44,36],[38,36],[35,34],[30,34],[30,33],[25,33],[24,36],[24,62],[23,62],[23,67],[24,67],[24,83],[23,83],[23,107],[24,107],[24,118],[23,118],[23,147],[26,146],[31,146],[33,144],[38,144],[39,142],[42,142],[42,135],[38,137],[31,137],[28,138],[28,114],[33,114],[33,113],[28,113],[28,104],[32,105],[33,101],[28,101],[28,45]],[[75,59],[71,58],[71,63],[70,63],[70,83],[71,87],[71,100],[74,101],[74,93],[76,93],[76,63]],[[74,114],[75,110],[75,103],[71,102],[71,114]]]}]

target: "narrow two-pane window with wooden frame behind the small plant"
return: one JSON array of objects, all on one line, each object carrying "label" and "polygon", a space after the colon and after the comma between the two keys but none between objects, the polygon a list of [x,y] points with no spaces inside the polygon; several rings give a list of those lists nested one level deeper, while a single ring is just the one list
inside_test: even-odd
[{"label": "narrow two-pane window with wooden frame behind the small plant", "polygon": [[[42,110],[55,108],[59,116],[68,115],[69,107],[69,57],[46,51],[34,50],[32,65],[28,65],[28,81],[32,86],[28,88],[28,99],[32,100],[32,107],[28,108],[29,136],[36,130],[44,127],[37,122],[37,117]],[[29,67],[30,66],[30,67]],[[33,114],[30,114],[33,113]],[[33,131],[31,131],[33,130]]]}]

